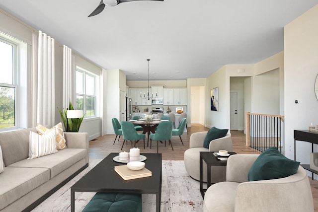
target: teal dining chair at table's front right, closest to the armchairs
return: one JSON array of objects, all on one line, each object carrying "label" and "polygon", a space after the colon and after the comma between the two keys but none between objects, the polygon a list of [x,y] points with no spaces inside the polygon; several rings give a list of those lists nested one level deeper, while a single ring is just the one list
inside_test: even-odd
[{"label": "teal dining chair at table's front right, closest to the armchairs", "polygon": [[171,143],[171,136],[172,136],[172,122],[168,121],[168,122],[160,122],[156,133],[151,134],[150,135],[150,148],[151,148],[151,144],[152,141],[157,141],[157,153],[158,153],[158,141],[160,141],[162,143],[162,141],[164,141],[164,146],[165,146],[165,141],[169,141],[169,144],[171,145],[172,151],[173,151],[173,147],[172,147],[172,143]]}]

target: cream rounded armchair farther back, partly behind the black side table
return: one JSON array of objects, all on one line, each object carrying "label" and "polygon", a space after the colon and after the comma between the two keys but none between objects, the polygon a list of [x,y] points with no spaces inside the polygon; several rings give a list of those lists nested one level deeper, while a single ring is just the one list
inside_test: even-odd
[{"label": "cream rounded armchair farther back, partly behind the black side table", "polygon": [[[200,180],[200,151],[233,151],[231,134],[221,139],[210,141],[209,148],[203,147],[208,132],[193,133],[190,136],[189,149],[184,152],[184,166],[187,173],[195,180]],[[211,183],[226,180],[226,166],[211,166]],[[207,182],[207,165],[203,161],[203,182]]]}]

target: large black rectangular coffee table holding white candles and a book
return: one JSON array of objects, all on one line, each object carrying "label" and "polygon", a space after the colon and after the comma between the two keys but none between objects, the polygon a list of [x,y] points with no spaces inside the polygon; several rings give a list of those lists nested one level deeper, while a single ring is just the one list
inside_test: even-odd
[{"label": "large black rectangular coffee table holding white candles and a book", "polygon": [[114,166],[125,164],[113,161],[118,154],[110,153],[71,187],[71,212],[75,210],[75,192],[156,194],[156,211],[160,211],[161,154],[141,153],[147,157],[145,167],[152,176],[133,180],[124,180],[115,172]]}]

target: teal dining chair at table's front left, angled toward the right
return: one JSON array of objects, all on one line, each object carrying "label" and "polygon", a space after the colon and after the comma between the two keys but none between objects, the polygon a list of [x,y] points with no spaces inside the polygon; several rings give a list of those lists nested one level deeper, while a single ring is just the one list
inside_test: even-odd
[{"label": "teal dining chair at table's front left, angled toward the right", "polygon": [[123,132],[124,142],[121,146],[121,149],[123,149],[125,141],[131,141],[131,145],[134,143],[134,147],[136,147],[136,143],[138,143],[139,140],[144,139],[144,148],[145,148],[145,134],[137,133],[135,130],[135,127],[133,123],[129,121],[122,121],[121,122],[121,130]]}]

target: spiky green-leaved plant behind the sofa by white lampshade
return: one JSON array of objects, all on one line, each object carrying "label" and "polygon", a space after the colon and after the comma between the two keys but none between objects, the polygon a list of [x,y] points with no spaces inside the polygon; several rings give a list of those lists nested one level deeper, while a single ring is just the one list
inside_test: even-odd
[{"label": "spiky green-leaved plant behind the sofa by white lampshade", "polygon": [[80,114],[80,117],[73,118],[73,117],[70,117],[70,114],[68,116],[68,111],[70,110],[76,110],[74,109],[71,100],[70,100],[69,110],[65,110],[64,108],[62,110],[59,109],[62,122],[65,128],[65,132],[79,132],[79,127],[81,122],[83,121],[85,114],[82,114],[82,111],[81,111],[82,115]]}]

